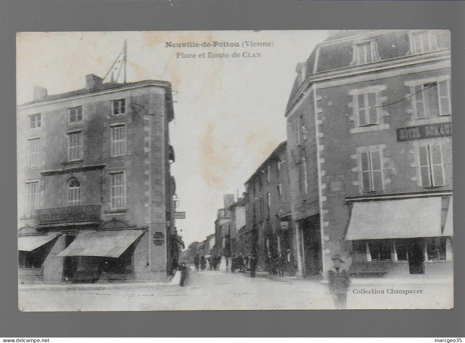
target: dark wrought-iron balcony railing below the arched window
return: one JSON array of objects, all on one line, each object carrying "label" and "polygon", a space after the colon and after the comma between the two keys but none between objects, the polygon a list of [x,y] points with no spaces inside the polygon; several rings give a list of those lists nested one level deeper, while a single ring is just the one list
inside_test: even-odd
[{"label": "dark wrought-iron balcony railing below the arched window", "polygon": [[100,205],[69,206],[59,208],[44,208],[35,211],[36,225],[74,222],[100,222]]}]

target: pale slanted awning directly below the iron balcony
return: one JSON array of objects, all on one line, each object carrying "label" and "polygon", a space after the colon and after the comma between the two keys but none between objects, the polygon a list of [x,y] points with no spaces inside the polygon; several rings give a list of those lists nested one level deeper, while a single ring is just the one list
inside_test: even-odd
[{"label": "pale slanted awning directly below the iron balcony", "polygon": [[81,232],[56,257],[103,256],[120,257],[145,230]]}]

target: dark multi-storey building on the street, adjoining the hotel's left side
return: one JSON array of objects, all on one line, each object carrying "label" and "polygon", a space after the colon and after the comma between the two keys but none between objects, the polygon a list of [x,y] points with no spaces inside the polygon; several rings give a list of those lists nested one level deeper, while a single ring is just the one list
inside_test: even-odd
[{"label": "dark multi-storey building on the street, adjoining the hotel's left side", "polygon": [[246,232],[250,235],[250,251],[259,266],[265,268],[268,252],[297,251],[290,229],[291,207],[286,141],[272,152],[245,183],[247,191]]}]

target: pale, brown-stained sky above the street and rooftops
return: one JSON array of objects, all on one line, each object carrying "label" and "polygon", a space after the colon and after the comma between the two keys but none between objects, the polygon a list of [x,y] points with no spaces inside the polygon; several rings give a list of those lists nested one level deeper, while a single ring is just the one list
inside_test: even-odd
[{"label": "pale, brown-stained sky above the street and rooftops", "polygon": [[[187,246],[214,233],[223,194],[244,182],[286,140],[286,103],[304,62],[326,31],[172,31],[21,33],[17,38],[17,102],[33,87],[59,94],[85,86],[86,74],[105,76],[128,40],[127,81],[172,83],[170,138],[176,161],[176,227]],[[243,41],[272,47],[242,47]],[[166,42],[238,42],[241,47],[166,47]],[[187,54],[260,53],[259,58],[176,58]],[[120,76],[121,80],[121,76]],[[182,230],[182,232],[181,232]]]}]

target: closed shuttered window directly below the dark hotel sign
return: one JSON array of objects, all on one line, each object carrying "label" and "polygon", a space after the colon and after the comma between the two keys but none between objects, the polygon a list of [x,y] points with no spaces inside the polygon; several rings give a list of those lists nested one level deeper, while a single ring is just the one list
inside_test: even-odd
[{"label": "closed shuttered window directly below the dark hotel sign", "polygon": [[421,187],[445,186],[444,164],[440,144],[428,144],[418,148]]}]

